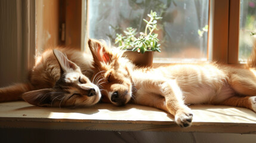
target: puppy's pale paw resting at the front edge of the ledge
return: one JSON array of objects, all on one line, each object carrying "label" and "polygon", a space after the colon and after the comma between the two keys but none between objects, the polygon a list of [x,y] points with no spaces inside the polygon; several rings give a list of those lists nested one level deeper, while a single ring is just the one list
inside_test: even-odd
[{"label": "puppy's pale paw resting at the front edge of the ledge", "polygon": [[189,110],[181,110],[175,114],[175,122],[182,128],[190,127],[192,125],[193,114]]}]

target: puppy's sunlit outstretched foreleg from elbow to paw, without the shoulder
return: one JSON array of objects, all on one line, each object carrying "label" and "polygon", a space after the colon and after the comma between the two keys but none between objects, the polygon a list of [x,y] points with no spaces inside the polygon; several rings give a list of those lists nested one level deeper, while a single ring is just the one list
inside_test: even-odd
[{"label": "puppy's sunlit outstretched foreleg from elbow to paw, without the shoulder", "polygon": [[192,111],[184,104],[183,93],[175,80],[167,80],[159,85],[165,97],[166,109],[175,116],[175,122],[181,127],[192,125]]}]

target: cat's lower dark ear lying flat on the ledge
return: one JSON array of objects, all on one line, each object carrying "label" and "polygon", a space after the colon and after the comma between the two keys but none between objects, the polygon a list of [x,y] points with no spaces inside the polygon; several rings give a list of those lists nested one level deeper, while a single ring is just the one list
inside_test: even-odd
[{"label": "cat's lower dark ear lying flat on the ledge", "polygon": [[57,96],[57,95],[54,95],[54,93],[55,93],[54,89],[45,88],[45,89],[39,89],[36,91],[25,92],[22,95],[22,98],[24,101],[32,105],[51,107],[51,105],[53,104],[52,99],[54,99],[54,97]]}]

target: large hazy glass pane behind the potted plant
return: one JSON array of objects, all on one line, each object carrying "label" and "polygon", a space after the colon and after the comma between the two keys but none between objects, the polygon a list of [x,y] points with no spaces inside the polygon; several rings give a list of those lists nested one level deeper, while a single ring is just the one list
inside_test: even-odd
[{"label": "large hazy glass pane behind the potted plant", "polygon": [[147,14],[153,10],[162,17],[154,31],[162,52],[155,52],[155,59],[206,60],[208,9],[206,0],[94,0],[89,5],[90,38],[114,45],[116,33],[127,27],[144,32],[143,18],[149,20]]}]

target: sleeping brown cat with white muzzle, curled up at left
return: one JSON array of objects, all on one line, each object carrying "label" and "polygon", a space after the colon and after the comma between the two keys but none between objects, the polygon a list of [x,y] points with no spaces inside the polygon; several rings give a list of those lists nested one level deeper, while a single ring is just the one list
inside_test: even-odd
[{"label": "sleeping brown cat with white muzzle, curled up at left", "polygon": [[94,105],[100,101],[101,94],[95,85],[99,83],[90,81],[91,60],[91,55],[78,50],[47,49],[36,57],[28,82],[0,88],[0,102],[23,99],[32,105],[46,107]]}]

